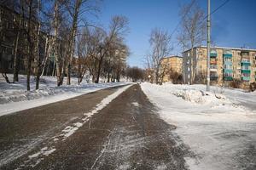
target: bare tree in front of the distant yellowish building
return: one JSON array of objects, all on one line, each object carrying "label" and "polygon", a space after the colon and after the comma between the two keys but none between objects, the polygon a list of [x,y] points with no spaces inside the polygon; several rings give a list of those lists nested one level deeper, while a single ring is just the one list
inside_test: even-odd
[{"label": "bare tree in front of the distant yellowish building", "polygon": [[151,54],[148,55],[148,65],[152,65],[154,71],[154,82],[160,83],[161,59],[168,56],[172,51],[171,36],[167,31],[154,28],[151,31],[150,39]]}]

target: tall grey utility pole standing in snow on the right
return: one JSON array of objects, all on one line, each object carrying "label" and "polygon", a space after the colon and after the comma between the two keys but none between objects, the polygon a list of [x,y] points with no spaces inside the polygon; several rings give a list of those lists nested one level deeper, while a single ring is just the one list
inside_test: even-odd
[{"label": "tall grey utility pole standing in snow on the right", "polygon": [[208,0],[207,14],[207,91],[210,91],[210,48],[211,48],[211,0]]}]

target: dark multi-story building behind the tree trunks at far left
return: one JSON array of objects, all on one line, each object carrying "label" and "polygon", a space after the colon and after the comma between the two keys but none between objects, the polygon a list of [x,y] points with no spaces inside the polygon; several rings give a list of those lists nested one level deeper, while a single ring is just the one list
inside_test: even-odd
[{"label": "dark multi-story building behind the tree trunks at far left", "polygon": [[[15,7],[12,5],[1,3],[0,4],[0,72],[13,73],[15,67],[15,56],[18,60],[19,67],[16,68],[19,71],[19,74],[26,73],[27,65],[27,50],[28,43],[25,30],[28,26],[28,20],[26,17],[23,17],[15,10]],[[23,24],[22,24],[23,23]],[[32,20],[32,41],[34,42],[35,48],[38,48],[38,56],[42,60],[44,58],[44,50],[46,41],[48,41],[49,46],[53,42],[53,37],[49,34],[39,31],[39,23],[37,20]],[[38,38],[39,37],[39,38]],[[61,40],[59,40],[61,41]],[[61,49],[64,48],[61,45]],[[60,54],[63,50],[60,50]],[[55,59],[53,56],[52,50],[49,52],[50,57],[47,62],[47,72],[52,72],[55,70]],[[35,56],[36,56],[35,52]],[[35,73],[37,67],[36,59],[32,60],[32,74]]]}]

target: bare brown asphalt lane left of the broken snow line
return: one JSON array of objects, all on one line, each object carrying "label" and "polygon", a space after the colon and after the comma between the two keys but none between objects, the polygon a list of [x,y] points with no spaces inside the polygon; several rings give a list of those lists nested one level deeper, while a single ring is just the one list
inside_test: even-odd
[{"label": "bare brown asphalt lane left of the broken snow line", "polygon": [[[72,99],[0,116],[0,169],[20,165],[20,157],[45,144],[81,118],[117,88],[107,88]],[[4,169],[3,168],[3,169]]]}]

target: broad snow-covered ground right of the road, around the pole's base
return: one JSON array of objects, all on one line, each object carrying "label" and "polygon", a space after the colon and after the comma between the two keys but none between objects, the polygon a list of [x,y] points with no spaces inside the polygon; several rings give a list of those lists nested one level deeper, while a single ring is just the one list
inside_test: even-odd
[{"label": "broad snow-covered ground right of the road, around the pole's base", "polygon": [[186,158],[190,169],[256,167],[255,93],[218,87],[207,93],[205,85],[141,86],[195,154]]}]

